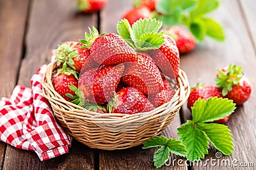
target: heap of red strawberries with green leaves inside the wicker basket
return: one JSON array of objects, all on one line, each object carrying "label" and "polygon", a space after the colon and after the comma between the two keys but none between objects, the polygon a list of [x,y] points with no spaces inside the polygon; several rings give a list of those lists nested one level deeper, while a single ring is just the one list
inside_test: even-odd
[{"label": "heap of red strawberries with green leaves inside the wicker basket", "polygon": [[93,27],[79,42],[56,50],[54,89],[65,100],[99,113],[134,114],[170,101],[174,87],[166,78],[179,74],[175,41],[156,19],[132,27],[118,22],[118,34],[99,34]]}]

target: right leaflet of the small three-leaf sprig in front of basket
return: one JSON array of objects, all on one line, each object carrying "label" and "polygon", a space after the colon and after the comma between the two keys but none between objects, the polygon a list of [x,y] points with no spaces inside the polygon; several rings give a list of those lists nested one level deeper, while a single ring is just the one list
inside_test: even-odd
[{"label": "right leaflet of the small three-leaf sprig in front of basket", "polygon": [[182,145],[182,141],[179,141],[177,139],[168,139],[167,146],[170,152],[174,153],[175,155],[186,157],[186,155],[188,154],[186,146]]}]

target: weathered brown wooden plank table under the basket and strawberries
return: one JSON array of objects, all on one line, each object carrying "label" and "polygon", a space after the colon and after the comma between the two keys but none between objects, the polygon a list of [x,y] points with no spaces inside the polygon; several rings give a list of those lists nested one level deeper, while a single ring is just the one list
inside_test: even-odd
[{"label": "weathered brown wooden plank table under the basket and strawberries", "polygon": [[[30,86],[38,67],[50,62],[51,49],[63,41],[83,39],[88,27],[100,32],[116,32],[116,23],[132,7],[132,1],[109,0],[99,13],[77,14],[74,0],[0,0],[0,97],[10,97],[15,85]],[[214,85],[218,68],[239,64],[253,85],[250,99],[239,106],[227,125],[234,138],[234,152],[220,160],[237,160],[237,166],[163,166],[161,169],[253,169],[256,167],[256,1],[223,0],[211,13],[225,27],[226,40],[217,43],[206,39],[196,49],[180,56],[180,67],[186,71],[191,87],[197,82]],[[177,127],[189,118],[182,107],[163,135],[177,138]],[[141,146],[118,151],[88,148],[72,142],[70,153],[41,162],[36,153],[18,150],[0,142],[0,169],[156,169],[156,148]],[[216,159],[211,146],[205,159]],[[172,159],[180,159],[172,155]],[[240,163],[252,162],[253,167]],[[183,162],[184,163],[184,162]],[[205,160],[203,161],[205,162]],[[208,162],[209,163],[209,162]],[[239,167],[240,166],[240,167]]]}]

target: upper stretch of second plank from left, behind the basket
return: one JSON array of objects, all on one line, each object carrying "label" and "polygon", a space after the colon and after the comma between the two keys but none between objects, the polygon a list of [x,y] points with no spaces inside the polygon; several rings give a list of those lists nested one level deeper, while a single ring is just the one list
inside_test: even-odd
[{"label": "upper stretch of second plank from left, behind the basket", "polygon": [[92,26],[97,27],[97,15],[77,13],[73,0],[34,0],[26,35],[27,50],[18,83],[29,86],[36,69],[49,62],[51,49],[63,41],[83,39],[84,32]]}]

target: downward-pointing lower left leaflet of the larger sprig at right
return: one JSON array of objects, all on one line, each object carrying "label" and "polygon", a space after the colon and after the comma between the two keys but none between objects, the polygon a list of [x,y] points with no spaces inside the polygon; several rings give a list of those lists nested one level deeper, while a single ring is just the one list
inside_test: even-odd
[{"label": "downward-pointing lower left leaflet of the larger sprig at right", "polygon": [[204,131],[196,127],[193,121],[188,120],[186,124],[178,128],[179,139],[188,150],[187,158],[194,162],[204,158],[208,153],[208,138]]}]

